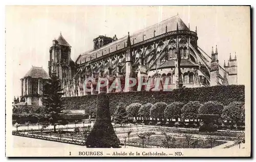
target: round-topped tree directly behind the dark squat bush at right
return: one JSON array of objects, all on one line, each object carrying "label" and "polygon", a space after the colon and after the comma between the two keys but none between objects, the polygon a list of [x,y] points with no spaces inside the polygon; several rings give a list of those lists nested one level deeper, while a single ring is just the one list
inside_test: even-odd
[{"label": "round-topped tree directly behind the dark squat bush at right", "polygon": [[201,105],[199,109],[199,114],[215,114],[222,115],[223,104],[217,101],[208,101]]}]

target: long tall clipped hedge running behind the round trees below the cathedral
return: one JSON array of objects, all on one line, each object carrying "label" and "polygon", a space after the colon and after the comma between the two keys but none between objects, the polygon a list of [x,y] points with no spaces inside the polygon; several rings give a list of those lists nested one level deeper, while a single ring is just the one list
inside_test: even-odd
[{"label": "long tall clipped hedge running behind the round trees below the cathedral", "polygon": [[[207,101],[218,101],[223,105],[230,102],[245,102],[244,85],[229,86],[212,86],[199,88],[180,88],[170,92],[120,92],[108,93],[110,99],[110,113],[113,114],[119,102],[123,102],[125,106],[132,103],[153,103],[166,102],[167,104],[174,101],[187,103],[189,101],[199,101],[204,103]],[[68,110],[80,110],[81,104],[86,104],[88,109],[96,109],[97,95],[63,97],[63,104]]]}]

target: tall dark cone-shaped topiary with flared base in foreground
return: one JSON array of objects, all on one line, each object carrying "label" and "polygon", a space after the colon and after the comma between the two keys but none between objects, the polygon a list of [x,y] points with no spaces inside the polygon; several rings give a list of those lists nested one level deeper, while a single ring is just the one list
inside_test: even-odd
[{"label": "tall dark cone-shaped topiary with flared base in foreground", "polygon": [[91,148],[119,148],[119,145],[120,140],[111,124],[109,97],[105,93],[101,93],[97,97],[96,121],[87,138],[86,146]]}]

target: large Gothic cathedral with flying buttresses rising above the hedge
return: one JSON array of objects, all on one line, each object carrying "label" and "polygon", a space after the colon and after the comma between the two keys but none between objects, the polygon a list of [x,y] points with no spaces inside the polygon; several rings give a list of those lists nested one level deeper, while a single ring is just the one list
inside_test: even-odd
[{"label": "large Gothic cathedral with flying buttresses rising above the hedge", "polygon": [[[221,66],[217,45],[208,55],[197,41],[197,27],[190,30],[189,24],[176,15],[119,39],[100,35],[93,39],[91,50],[73,61],[71,45],[60,33],[50,47],[49,74],[57,73],[66,97],[145,91],[141,83],[150,81],[154,87],[156,78],[160,78],[161,90],[164,86],[176,89],[237,84],[236,54],[232,58],[230,53]],[[134,87],[127,82],[131,77],[137,79]],[[116,78],[121,89],[109,91]],[[85,83],[86,79],[89,82]],[[98,80],[105,80],[106,87],[98,88]]]}]

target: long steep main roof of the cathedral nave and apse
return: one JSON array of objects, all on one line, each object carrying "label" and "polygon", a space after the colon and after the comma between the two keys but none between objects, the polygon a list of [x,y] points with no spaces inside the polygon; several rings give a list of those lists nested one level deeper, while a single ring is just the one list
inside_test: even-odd
[{"label": "long steep main roof of the cathedral nave and apse", "polygon": [[[159,23],[156,23],[152,26],[148,26],[140,31],[137,31],[133,34],[130,34],[131,43],[136,44],[146,39],[150,39],[154,37],[154,31],[155,36],[164,34],[166,32],[166,26],[167,26],[167,32],[170,31],[176,31],[177,30],[177,24],[178,24],[178,30],[189,30],[185,23],[182,21],[182,19],[176,15],[173,17],[170,17],[166,20],[163,20]],[[143,37],[144,35],[144,37]],[[107,55],[110,52],[114,52],[116,50],[125,48],[127,46],[127,36],[124,36],[112,43],[106,44],[103,47],[96,49],[96,50],[89,50],[87,52],[84,52],[77,58],[76,63],[84,63],[87,61],[90,61],[91,56],[93,59],[96,57],[101,57],[103,55]]]}]

